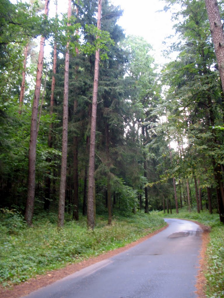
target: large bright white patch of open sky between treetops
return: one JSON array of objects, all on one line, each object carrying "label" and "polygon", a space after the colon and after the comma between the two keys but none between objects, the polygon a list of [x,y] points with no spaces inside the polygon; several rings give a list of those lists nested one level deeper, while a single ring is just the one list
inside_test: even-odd
[{"label": "large bright white patch of open sky between treetops", "polygon": [[[151,44],[155,50],[156,62],[165,62],[161,57],[162,41],[174,33],[171,13],[163,12],[165,1],[160,0],[111,0],[124,10],[119,25],[125,29],[126,35],[140,35]],[[158,61],[159,60],[159,61]]]}]

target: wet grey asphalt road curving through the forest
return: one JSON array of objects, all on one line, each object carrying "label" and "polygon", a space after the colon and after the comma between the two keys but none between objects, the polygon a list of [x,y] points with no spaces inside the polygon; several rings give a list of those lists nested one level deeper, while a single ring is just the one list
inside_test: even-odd
[{"label": "wet grey asphalt road curving through the forest", "polygon": [[192,298],[199,266],[201,229],[166,219],[162,232],[26,298]]}]

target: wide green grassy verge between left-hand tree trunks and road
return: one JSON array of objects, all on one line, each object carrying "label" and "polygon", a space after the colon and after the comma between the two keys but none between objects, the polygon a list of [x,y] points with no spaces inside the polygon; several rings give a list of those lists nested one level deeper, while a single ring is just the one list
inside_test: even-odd
[{"label": "wide green grassy verge between left-hand tree trunks and road", "polygon": [[158,215],[145,213],[116,216],[111,226],[106,217],[98,217],[96,228],[86,228],[86,218],[79,222],[67,218],[63,229],[57,228],[57,215],[42,213],[27,227],[16,211],[1,210],[0,282],[3,286],[24,282],[37,274],[62,268],[91,256],[125,246],[153,232],[165,222]]}]

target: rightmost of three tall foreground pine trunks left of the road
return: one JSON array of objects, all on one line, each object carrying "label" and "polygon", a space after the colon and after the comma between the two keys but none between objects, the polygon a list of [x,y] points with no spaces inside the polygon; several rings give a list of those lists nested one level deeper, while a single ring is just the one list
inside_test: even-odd
[{"label": "rightmost of three tall foreground pine trunks left of the road", "polygon": [[[102,0],[98,0],[98,17],[97,29],[101,28],[101,10]],[[89,153],[89,181],[88,181],[88,203],[87,203],[87,226],[94,229],[94,171],[95,171],[95,141],[96,141],[96,110],[97,110],[97,93],[99,79],[99,49],[96,49],[95,68],[93,81],[93,101],[91,115],[91,130],[90,130],[90,153]]]}]

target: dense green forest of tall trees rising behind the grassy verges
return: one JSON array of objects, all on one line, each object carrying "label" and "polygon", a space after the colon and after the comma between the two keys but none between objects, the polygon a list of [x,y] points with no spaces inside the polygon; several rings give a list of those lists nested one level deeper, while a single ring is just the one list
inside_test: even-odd
[{"label": "dense green forest of tall trees rising behind the grassy verges", "polygon": [[[49,18],[47,0],[1,0],[1,208],[19,210],[29,225],[42,210],[59,210],[59,225],[64,210],[77,221],[87,215],[98,51],[93,215],[108,210],[111,223],[115,211],[187,206],[218,212],[224,222],[224,95],[205,3],[166,2],[176,36],[164,41],[164,55],[178,54],[161,69],[147,41],[124,35],[122,10],[108,0],[101,28],[97,1],[72,1],[71,16]],[[51,50],[45,46],[41,58],[45,41]]]}]

